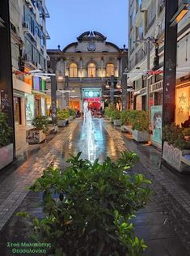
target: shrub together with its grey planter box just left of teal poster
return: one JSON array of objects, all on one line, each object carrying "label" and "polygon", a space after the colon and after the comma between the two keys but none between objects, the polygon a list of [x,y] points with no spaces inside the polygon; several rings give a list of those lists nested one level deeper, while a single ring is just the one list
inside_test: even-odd
[{"label": "shrub together with its grey planter box just left of teal poster", "polygon": [[132,125],[133,139],[139,143],[150,140],[149,115],[143,110],[133,110],[129,114],[129,122]]}]

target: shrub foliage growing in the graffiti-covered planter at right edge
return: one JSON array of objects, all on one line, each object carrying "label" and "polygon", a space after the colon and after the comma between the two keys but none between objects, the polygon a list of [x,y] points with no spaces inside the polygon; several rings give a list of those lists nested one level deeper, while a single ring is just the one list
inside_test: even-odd
[{"label": "shrub foliage growing in the graffiti-covered planter at right edge", "polygon": [[187,148],[187,146],[189,147],[189,138],[185,138],[185,136],[189,135],[190,129],[180,127],[175,123],[171,123],[171,125],[165,126],[163,129],[163,139],[180,150]]}]

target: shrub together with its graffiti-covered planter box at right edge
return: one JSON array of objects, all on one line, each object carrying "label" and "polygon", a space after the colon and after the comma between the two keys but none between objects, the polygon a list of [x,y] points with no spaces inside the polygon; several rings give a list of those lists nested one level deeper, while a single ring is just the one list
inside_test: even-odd
[{"label": "shrub together with its graffiti-covered planter box at right edge", "polygon": [[189,172],[190,129],[172,123],[163,129],[163,160],[179,172]]}]

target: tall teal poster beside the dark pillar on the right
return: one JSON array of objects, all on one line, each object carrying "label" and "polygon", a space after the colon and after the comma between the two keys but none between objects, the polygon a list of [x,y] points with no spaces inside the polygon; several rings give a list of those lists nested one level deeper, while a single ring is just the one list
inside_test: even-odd
[{"label": "tall teal poster beside the dark pillar on the right", "polygon": [[163,133],[163,106],[151,107],[151,126],[152,126],[152,140],[156,143],[162,143]]}]

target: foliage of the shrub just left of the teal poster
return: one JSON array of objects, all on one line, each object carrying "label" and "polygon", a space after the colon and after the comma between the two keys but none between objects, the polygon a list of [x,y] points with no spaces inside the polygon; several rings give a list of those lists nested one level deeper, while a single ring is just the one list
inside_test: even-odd
[{"label": "foliage of the shrub just left of the teal poster", "polygon": [[143,110],[133,110],[129,113],[129,122],[133,130],[148,130],[149,129],[149,115]]}]

